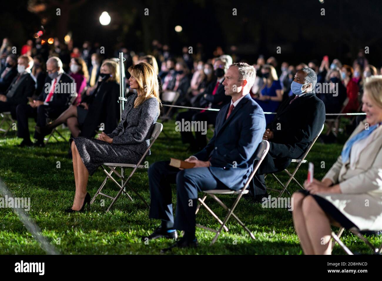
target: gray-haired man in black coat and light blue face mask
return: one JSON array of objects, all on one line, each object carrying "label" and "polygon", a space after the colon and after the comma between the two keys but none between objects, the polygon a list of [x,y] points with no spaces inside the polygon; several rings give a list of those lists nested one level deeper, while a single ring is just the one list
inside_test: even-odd
[{"label": "gray-haired man in black coat and light blue face mask", "polygon": [[268,124],[264,139],[269,152],[253,177],[250,193],[261,202],[267,197],[264,174],[283,171],[292,159],[300,158],[320,132],[325,121],[325,105],[316,96],[317,75],[311,68],[297,71],[291,89],[293,96],[278,108],[275,119]]}]

